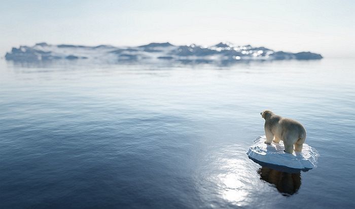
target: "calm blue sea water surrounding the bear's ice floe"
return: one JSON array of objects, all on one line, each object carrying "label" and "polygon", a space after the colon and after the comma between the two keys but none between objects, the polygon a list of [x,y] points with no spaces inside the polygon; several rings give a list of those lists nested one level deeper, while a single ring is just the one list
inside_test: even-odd
[{"label": "calm blue sea water surrounding the bear's ice floe", "polygon": [[[354,66],[0,60],[0,208],[354,208]],[[317,168],[247,157],[264,109],[304,124]]]}]

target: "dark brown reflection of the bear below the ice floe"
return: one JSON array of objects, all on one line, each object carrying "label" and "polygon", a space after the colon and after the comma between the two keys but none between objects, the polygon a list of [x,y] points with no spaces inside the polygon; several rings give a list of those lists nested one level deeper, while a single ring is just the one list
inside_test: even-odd
[{"label": "dark brown reflection of the bear below the ice floe", "polygon": [[276,186],[276,189],[285,196],[297,193],[301,186],[301,171],[298,173],[281,172],[262,166],[258,170],[260,179]]}]

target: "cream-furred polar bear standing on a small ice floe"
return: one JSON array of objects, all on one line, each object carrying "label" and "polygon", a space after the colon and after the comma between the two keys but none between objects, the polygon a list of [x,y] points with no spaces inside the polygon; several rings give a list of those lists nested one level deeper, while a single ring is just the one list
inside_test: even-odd
[{"label": "cream-furred polar bear standing on a small ice floe", "polygon": [[302,151],[306,140],[306,129],[300,122],[275,115],[270,110],[264,110],[260,114],[265,119],[266,144],[271,144],[272,141],[279,143],[282,140],[285,152],[292,154],[294,145],[296,152]]}]

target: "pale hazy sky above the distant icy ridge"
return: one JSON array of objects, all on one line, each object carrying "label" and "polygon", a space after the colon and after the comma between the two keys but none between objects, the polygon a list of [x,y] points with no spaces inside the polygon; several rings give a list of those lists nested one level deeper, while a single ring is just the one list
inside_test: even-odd
[{"label": "pale hazy sky above the distant icy ridge", "polygon": [[355,1],[0,1],[0,55],[50,44],[230,41],[355,57]]}]

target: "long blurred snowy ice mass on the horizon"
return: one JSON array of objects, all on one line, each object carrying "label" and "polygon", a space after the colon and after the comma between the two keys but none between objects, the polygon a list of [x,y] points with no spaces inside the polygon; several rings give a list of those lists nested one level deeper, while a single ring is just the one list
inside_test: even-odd
[{"label": "long blurred snowy ice mass on the horizon", "polygon": [[176,62],[240,62],[265,60],[319,60],[322,55],[311,52],[290,53],[274,51],[265,47],[250,45],[237,46],[231,43],[219,43],[210,47],[198,45],[174,46],[166,43],[150,43],[138,47],[114,47],[99,45],[95,47],[81,45],[50,45],[38,43],[32,47],[20,46],[6,53],[6,60],[44,61],[44,60],[102,60],[102,61],[176,61]]}]

